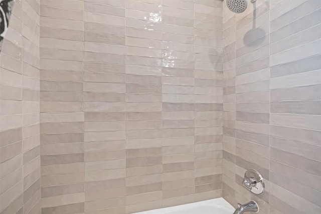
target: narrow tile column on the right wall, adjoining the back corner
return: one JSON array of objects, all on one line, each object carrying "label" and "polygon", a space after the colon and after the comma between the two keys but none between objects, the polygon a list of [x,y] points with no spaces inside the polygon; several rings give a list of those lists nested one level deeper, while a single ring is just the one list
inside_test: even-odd
[{"label": "narrow tile column on the right wall, adjoining the back corner", "polygon": [[236,17],[223,2],[223,197],[235,206]]}]

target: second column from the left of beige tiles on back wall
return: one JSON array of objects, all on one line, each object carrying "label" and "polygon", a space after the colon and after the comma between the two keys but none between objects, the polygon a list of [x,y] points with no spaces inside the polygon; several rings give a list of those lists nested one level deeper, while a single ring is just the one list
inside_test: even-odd
[{"label": "second column from the left of beige tiles on back wall", "polygon": [[108,2],[84,2],[84,211],[89,213],[125,210],[124,14]]}]

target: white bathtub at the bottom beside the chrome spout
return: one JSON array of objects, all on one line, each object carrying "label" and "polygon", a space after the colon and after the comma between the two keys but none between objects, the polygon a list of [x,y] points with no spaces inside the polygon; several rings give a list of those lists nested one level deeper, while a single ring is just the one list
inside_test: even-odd
[{"label": "white bathtub at the bottom beside the chrome spout", "polygon": [[234,210],[231,204],[220,197],[179,206],[136,212],[134,214],[233,214]]}]

